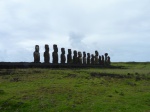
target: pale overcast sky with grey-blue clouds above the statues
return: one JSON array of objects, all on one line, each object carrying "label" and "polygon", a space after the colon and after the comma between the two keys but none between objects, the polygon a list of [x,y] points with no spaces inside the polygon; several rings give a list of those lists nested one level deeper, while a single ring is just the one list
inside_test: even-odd
[{"label": "pale overcast sky with grey-blue clouds above the statues", "polygon": [[150,0],[0,0],[0,62],[32,62],[36,44],[41,62],[45,44],[150,61]]}]

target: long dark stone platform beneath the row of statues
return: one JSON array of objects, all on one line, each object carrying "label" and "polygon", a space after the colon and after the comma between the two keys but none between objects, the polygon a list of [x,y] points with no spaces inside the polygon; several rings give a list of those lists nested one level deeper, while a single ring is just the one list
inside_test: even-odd
[{"label": "long dark stone platform beneath the row of statues", "polygon": [[0,62],[0,69],[15,68],[118,68],[115,66],[83,65],[83,64],[52,64],[33,62]]}]

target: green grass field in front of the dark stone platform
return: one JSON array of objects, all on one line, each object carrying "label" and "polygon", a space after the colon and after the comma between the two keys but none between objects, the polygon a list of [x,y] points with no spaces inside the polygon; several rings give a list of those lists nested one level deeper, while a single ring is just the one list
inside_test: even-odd
[{"label": "green grass field in front of the dark stone platform", "polygon": [[150,63],[1,69],[0,112],[150,112]]}]

